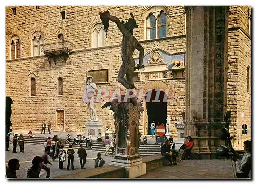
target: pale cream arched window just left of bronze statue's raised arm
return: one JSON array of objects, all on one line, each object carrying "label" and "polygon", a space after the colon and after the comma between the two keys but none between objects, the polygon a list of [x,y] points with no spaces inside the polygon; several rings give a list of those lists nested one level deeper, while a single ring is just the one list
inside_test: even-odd
[{"label": "pale cream arched window just left of bronze statue's raised arm", "polygon": [[92,48],[102,47],[105,42],[105,30],[102,23],[97,23],[92,29]]}]

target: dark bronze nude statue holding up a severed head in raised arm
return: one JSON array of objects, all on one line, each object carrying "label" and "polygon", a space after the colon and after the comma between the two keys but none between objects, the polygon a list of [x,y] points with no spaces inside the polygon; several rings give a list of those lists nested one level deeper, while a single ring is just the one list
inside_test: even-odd
[{"label": "dark bronze nude statue holding up a severed head in raised arm", "polygon": [[[117,24],[118,29],[123,34],[122,39],[122,65],[118,72],[118,81],[126,88],[126,89],[134,89],[133,83],[133,71],[136,69],[144,68],[142,65],[143,57],[144,57],[144,49],[139,44],[138,40],[133,36],[133,29],[138,28],[136,21],[133,17],[133,14],[130,13],[131,18],[125,23],[120,22],[120,20],[115,17],[111,16],[108,11],[104,11],[104,13],[99,13],[100,19],[106,32],[108,31],[109,27],[109,20],[115,22]],[[133,52],[137,49],[140,52],[139,56],[139,64],[135,67],[135,61],[133,59]],[[126,75],[126,79],[124,76]],[[136,89],[136,88],[135,88]]]}]

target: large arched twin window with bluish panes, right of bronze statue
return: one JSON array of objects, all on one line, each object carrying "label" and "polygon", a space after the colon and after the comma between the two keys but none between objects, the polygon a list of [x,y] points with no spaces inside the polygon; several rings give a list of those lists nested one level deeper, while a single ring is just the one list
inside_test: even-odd
[{"label": "large arched twin window with bluish panes, right of bronze statue", "polygon": [[151,7],[146,12],[145,39],[156,39],[167,36],[167,10],[163,6]]}]

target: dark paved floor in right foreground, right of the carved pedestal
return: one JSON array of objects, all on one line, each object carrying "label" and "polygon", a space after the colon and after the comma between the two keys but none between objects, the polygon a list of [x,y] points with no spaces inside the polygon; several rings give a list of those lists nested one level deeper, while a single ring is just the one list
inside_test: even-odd
[{"label": "dark paved floor in right foreground, right of the carved pedestal", "polygon": [[140,178],[234,179],[234,173],[230,159],[183,160],[178,166],[157,168]]}]

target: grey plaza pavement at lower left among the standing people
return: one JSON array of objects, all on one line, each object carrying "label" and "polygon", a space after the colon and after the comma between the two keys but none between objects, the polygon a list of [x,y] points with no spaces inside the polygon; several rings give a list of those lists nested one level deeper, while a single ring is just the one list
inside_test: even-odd
[{"label": "grey plaza pavement at lower left among the standing people", "polygon": [[[33,144],[25,144],[24,145],[24,153],[20,153],[19,152],[19,146],[17,146],[17,153],[12,153],[12,148],[13,146],[11,145],[11,147],[9,147],[10,151],[5,151],[6,156],[5,156],[5,161],[6,164],[8,163],[8,161],[12,158],[17,158],[19,159],[20,162],[20,169],[17,170],[17,177],[18,178],[27,178],[27,170],[28,168],[30,168],[32,166],[32,160],[35,156],[42,156],[43,154],[43,149],[42,149],[42,145],[33,145]],[[67,148],[66,148],[67,150]],[[77,149],[75,150],[75,154],[74,154],[74,168],[75,170],[71,170],[71,165],[70,165],[70,170],[67,171],[67,164],[68,161],[66,160],[63,164],[65,170],[60,170],[59,164],[58,164],[58,159],[55,159],[54,161],[52,159],[49,159],[49,161],[53,164],[52,166],[48,164],[48,167],[51,169],[51,175],[50,178],[59,176],[59,175],[65,175],[65,174],[70,174],[70,173],[75,173],[75,172],[79,172],[82,171],[81,167],[80,167],[80,161],[77,155]],[[86,169],[92,169],[94,168],[94,158],[97,157],[97,152],[95,151],[91,151],[91,150],[87,150],[87,162],[86,162]],[[110,164],[110,159],[111,156],[105,156],[104,154],[102,154],[101,156],[104,160],[105,160],[105,165]],[[105,166],[104,165],[104,166]],[[86,170],[85,169],[85,170]]]}]

